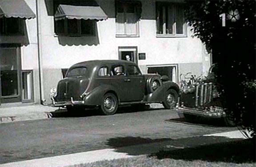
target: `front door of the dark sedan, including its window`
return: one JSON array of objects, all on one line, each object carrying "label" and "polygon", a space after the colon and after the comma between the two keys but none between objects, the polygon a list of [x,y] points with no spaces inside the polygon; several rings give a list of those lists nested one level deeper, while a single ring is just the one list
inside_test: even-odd
[{"label": "front door of the dark sedan, including its window", "polygon": [[144,97],[145,83],[138,66],[127,64],[127,88],[130,101],[141,101]]}]

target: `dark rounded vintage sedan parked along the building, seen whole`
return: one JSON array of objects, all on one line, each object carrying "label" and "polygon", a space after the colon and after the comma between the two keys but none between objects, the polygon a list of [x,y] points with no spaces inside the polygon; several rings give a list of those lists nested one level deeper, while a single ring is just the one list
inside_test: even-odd
[{"label": "dark rounded vintage sedan parked along the building, seen whole", "polygon": [[73,111],[77,107],[98,107],[106,115],[119,105],[162,103],[175,107],[179,86],[168,77],[142,74],[137,64],[124,60],[94,60],[71,66],[57,90],[52,105]]}]

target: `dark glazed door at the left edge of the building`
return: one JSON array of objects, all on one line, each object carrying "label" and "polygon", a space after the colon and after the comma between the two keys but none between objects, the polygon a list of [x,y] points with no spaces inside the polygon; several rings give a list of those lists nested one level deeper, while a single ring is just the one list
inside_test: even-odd
[{"label": "dark glazed door at the left edge of the building", "polygon": [[0,47],[1,103],[20,102],[20,47]]}]

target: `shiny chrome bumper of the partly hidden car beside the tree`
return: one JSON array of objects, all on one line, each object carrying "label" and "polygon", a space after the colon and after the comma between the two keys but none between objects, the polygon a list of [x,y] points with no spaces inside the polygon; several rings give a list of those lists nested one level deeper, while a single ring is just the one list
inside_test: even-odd
[{"label": "shiny chrome bumper of the partly hidden car beside the tree", "polygon": [[175,108],[176,112],[189,114],[189,115],[196,115],[200,117],[208,117],[208,118],[222,118],[226,117],[226,113],[224,109],[221,107],[210,107],[209,109],[197,109],[197,108],[189,108],[185,107],[178,100]]}]

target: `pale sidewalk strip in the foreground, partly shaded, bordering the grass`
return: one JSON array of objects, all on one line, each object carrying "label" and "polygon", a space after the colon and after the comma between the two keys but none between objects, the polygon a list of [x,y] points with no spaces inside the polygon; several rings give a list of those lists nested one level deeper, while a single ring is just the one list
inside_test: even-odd
[{"label": "pale sidewalk strip in the foreground, partly shaded, bordering the grass", "polygon": [[[192,142],[191,139],[184,138],[177,141],[162,141],[150,144],[139,144],[131,145],[121,148],[108,148],[95,151],[87,151],[80,153],[73,153],[69,155],[60,155],[54,157],[40,158],[40,159],[31,159],[20,162],[5,163],[0,164],[0,167],[82,167],[82,164],[94,163],[104,160],[113,160],[113,159],[128,159],[131,157],[139,157],[143,155],[150,155],[158,151],[171,151],[171,150],[180,150],[184,148],[195,148],[197,146],[207,145],[207,144],[218,144],[227,141],[239,141],[244,140],[245,137],[240,131],[232,132],[222,132],[211,135],[198,136],[198,139],[207,138],[212,136],[208,142],[202,143],[199,141]],[[216,140],[216,139],[222,140]],[[202,140],[206,141],[206,140]],[[183,146],[183,147],[180,147]],[[129,150],[129,151],[128,151]],[[143,151],[144,150],[144,151]],[[144,152],[139,155],[132,155],[132,152]],[[130,153],[129,153],[130,152]],[[100,155],[100,156],[99,156]]]}]

